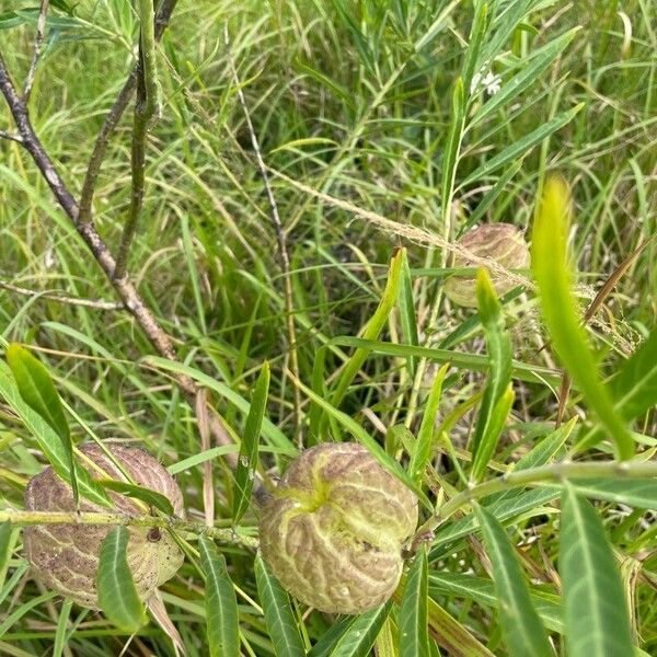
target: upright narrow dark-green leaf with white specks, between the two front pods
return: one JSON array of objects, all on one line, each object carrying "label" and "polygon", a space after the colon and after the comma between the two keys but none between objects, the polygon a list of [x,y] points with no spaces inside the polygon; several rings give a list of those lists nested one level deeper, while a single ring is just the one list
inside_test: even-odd
[{"label": "upright narrow dark-green leaf with white specks, between the two front pods", "polygon": [[240,446],[238,470],[235,472],[235,492],[233,497],[233,523],[238,523],[245,514],[251,502],[253,480],[257,466],[257,452],[263,418],[267,406],[267,394],[269,392],[269,364],[265,362],[255,382],[251,407],[246,416],[244,436]]}]

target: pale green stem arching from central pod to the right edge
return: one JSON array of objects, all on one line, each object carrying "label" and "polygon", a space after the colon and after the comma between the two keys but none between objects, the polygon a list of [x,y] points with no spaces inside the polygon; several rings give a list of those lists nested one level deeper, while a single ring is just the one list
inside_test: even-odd
[{"label": "pale green stem arching from central pod to the right edge", "polygon": [[549,483],[561,483],[563,480],[610,476],[627,479],[657,476],[657,462],[597,461],[591,463],[552,463],[550,465],[541,465],[540,468],[507,472],[503,476],[466,488],[446,502],[417,530],[413,545],[414,548],[419,545],[427,535],[430,535],[439,525],[461,507],[494,493],[500,493],[518,486],[540,486]]}]

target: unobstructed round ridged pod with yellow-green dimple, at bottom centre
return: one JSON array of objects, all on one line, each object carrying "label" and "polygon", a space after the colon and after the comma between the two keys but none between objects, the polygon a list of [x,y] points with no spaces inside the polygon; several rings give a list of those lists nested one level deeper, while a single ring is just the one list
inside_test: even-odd
[{"label": "unobstructed round ridged pod with yellow-green dimple, at bottom centre", "polygon": [[330,613],[388,600],[417,525],[417,498],[360,445],[307,449],[260,522],[263,557],[296,598]]}]

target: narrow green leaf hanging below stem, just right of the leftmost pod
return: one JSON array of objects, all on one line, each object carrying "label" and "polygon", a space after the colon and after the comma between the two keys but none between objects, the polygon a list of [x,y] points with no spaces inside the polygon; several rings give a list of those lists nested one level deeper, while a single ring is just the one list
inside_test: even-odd
[{"label": "narrow green leaf hanging below stem, just right of the leftmost pod", "polygon": [[198,539],[205,574],[206,627],[210,657],[240,656],[238,599],[226,570],[226,558],[207,537]]}]

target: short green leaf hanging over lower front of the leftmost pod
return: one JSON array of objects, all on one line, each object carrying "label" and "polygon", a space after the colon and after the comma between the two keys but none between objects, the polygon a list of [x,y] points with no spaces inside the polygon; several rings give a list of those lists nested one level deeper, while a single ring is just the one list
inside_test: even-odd
[{"label": "short green leaf hanging over lower front of the leftmost pod", "polygon": [[122,526],[103,540],[97,577],[99,604],[115,625],[135,633],[146,622],[146,613],[128,567],[128,535],[127,528]]}]

